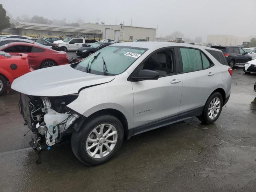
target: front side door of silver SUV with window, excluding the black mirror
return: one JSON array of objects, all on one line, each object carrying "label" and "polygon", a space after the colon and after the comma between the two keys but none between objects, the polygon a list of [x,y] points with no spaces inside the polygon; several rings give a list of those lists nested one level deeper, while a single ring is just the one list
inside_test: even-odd
[{"label": "front side door of silver SUV with window, excluding the black mirror", "polygon": [[151,124],[156,128],[157,124],[178,119],[182,76],[177,65],[176,48],[164,48],[150,54],[132,73],[136,76],[140,70],[148,69],[160,74],[157,80],[132,82],[136,133],[143,132],[143,126],[147,129]]}]

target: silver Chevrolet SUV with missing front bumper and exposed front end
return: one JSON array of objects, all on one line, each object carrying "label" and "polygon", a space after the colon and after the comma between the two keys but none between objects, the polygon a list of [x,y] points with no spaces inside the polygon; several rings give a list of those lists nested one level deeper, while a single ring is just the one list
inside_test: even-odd
[{"label": "silver Chevrolet SUV with missing front bumper and exposed front end", "polygon": [[[124,42],[81,62],[14,80],[20,111],[39,151],[72,134],[82,163],[108,161],[124,139],[187,118],[212,124],[230,96],[222,52],[169,42]],[[43,142],[44,141],[44,142]]]}]

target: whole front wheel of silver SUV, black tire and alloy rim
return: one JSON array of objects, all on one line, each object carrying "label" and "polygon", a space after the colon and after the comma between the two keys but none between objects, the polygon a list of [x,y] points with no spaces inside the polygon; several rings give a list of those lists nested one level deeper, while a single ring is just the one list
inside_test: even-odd
[{"label": "whole front wheel of silver SUV, black tire and alloy rim", "polygon": [[98,116],[88,120],[71,138],[71,147],[82,163],[94,166],[112,158],[122,146],[124,130],[114,116]]}]

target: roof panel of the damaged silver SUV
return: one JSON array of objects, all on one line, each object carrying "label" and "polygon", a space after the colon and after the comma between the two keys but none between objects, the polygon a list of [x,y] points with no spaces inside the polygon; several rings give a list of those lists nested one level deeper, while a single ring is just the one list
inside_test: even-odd
[{"label": "roof panel of the damaged silver SUV", "polygon": [[113,44],[110,46],[130,46],[130,47],[138,47],[138,48],[146,48],[146,49],[160,49],[164,47],[191,47],[191,48],[198,48],[198,49],[208,49],[208,50],[214,50],[219,51],[218,49],[200,46],[200,45],[191,45],[191,44],[185,44],[185,43],[172,43],[172,42],[150,42],[150,41],[139,41],[139,42],[121,42],[118,43],[118,45]]}]

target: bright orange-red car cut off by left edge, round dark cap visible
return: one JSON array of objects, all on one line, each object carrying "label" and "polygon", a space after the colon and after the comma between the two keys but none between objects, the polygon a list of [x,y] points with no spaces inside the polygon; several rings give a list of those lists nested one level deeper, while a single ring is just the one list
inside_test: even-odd
[{"label": "bright orange-red car cut off by left edge, round dark cap visible", "polygon": [[27,57],[27,54],[11,56],[0,51],[0,95],[6,92],[8,82],[12,84],[14,79],[34,70]]}]

